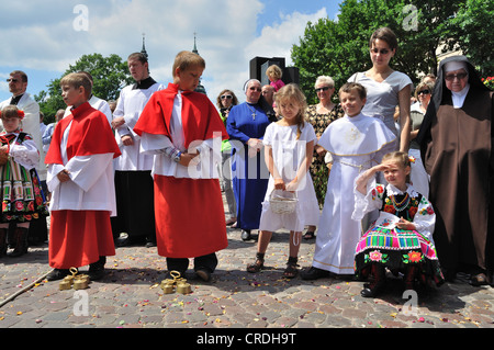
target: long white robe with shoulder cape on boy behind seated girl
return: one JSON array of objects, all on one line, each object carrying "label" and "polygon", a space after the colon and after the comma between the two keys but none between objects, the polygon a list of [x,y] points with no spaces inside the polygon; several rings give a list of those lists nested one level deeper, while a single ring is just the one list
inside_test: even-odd
[{"label": "long white robe with shoulder cape on boy behind seated girl", "polygon": [[333,156],[323,213],[317,225],[313,266],[353,274],[362,224],[353,221],[353,185],[359,173],[381,162],[396,147],[396,136],[378,118],[345,115],[326,128],[318,145]]}]

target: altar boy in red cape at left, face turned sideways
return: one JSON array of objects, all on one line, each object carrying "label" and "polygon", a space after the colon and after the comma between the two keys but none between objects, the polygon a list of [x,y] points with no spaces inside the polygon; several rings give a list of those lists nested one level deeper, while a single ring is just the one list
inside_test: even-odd
[{"label": "altar boy in red cape at left, face turned sideways", "polygon": [[70,115],[57,123],[45,162],[52,192],[49,281],[70,268],[89,264],[91,280],[104,274],[106,256],[115,255],[110,215],[115,213],[113,158],[120,156],[106,116],[91,108],[91,82],[82,74],[60,81]]}]

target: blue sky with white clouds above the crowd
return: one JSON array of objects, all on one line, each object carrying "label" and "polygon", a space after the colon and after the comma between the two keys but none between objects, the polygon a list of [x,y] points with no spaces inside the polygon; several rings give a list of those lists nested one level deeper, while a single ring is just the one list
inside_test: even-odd
[{"label": "blue sky with white clouds above the crowd", "polygon": [[[285,57],[307,21],[335,19],[341,1],[322,0],[23,0],[0,3],[0,101],[10,98],[13,69],[30,79],[27,92],[46,90],[52,79],[85,54],[141,50],[142,33],[151,76],[168,83],[175,55],[192,49],[193,33],[206,60],[203,84],[212,100],[233,89],[242,100],[248,63],[256,56]],[[86,12],[77,11],[82,4]],[[80,9],[79,9],[80,10]],[[80,22],[88,14],[86,22]],[[19,19],[24,19],[22,23]],[[87,27],[81,27],[81,23]],[[82,29],[82,30],[80,30]],[[5,49],[9,47],[9,49]]]}]

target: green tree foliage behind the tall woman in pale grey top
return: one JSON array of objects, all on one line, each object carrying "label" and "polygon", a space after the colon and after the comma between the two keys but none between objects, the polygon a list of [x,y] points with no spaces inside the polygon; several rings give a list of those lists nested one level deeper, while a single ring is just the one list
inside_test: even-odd
[{"label": "green tree foliage behind the tall woman in pale grey top", "polygon": [[308,102],[317,102],[314,82],[318,76],[330,76],[340,87],[352,74],[371,68],[369,38],[381,26],[391,27],[398,37],[391,61],[394,69],[415,83],[425,74],[437,74],[437,48],[452,36],[449,21],[462,3],[464,0],[346,0],[337,20],[307,23],[300,44],[292,47],[292,60]]}]

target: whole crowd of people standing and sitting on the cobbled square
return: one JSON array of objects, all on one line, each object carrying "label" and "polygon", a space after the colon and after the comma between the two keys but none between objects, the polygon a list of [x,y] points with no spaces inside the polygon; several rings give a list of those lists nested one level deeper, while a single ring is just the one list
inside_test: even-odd
[{"label": "whole crowd of people standing and sitting on the cobbled square", "polygon": [[[214,105],[194,91],[199,55],[179,53],[165,87],[132,54],[135,83],[114,103],[92,95],[87,72],[64,77],[67,109],[43,134],[27,77],[12,72],[13,98],[0,105],[0,257],[46,240],[49,203],[48,280],[88,264],[101,279],[115,246],[143,242],[169,272],[184,274],[193,258],[210,281],[231,226],[243,240],[259,232],[250,273],[265,268],[272,233],[287,229],[287,279],[364,280],[364,297],[384,289],[388,272],[402,273],[405,289],[457,272],[492,284],[493,92],[464,56],[444,59],[414,89],[391,66],[397,49],[390,29],[377,30],[372,68],[339,89],[318,77],[314,105],[277,66],[269,84],[245,83],[245,102],[224,89]],[[302,239],[315,239],[315,251],[300,271]]]}]

